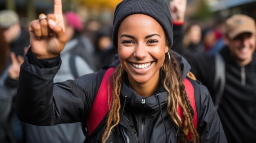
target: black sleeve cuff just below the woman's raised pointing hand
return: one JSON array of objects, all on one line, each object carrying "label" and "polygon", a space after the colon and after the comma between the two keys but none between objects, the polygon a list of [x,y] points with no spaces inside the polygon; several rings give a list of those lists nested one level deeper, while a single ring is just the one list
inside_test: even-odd
[{"label": "black sleeve cuff just below the woman's raised pointing hand", "polygon": [[53,68],[54,66],[58,65],[61,59],[60,55],[49,59],[38,59],[31,51],[31,48],[29,48],[29,50],[27,51],[26,56],[30,64],[38,66],[39,68]]}]

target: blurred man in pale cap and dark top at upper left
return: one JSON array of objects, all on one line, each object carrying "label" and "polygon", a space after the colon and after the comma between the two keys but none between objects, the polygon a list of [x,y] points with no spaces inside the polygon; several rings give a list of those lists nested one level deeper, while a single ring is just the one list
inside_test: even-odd
[{"label": "blurred man in pale cap and dark top at upper left", "polygon": [[15,11],[0,11],[0,27],[4,29],[5,40],[10,50],[16,55],[24,55],[24,47],[29,45],[29,35],[20,27],[19,17]]}]

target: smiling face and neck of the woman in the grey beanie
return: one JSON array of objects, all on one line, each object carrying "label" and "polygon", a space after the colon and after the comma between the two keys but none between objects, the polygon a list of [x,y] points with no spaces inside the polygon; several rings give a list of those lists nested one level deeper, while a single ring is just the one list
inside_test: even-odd
[{"label": "smiling face and neck of the woman in the grey beanie", "polygon": [[[148,15],[132,14],[120,24],[117,37],[120,63],[128,73],[129,82],[133,83],[132,88],[158,86],[159,69],[168,51],[162,26]],[[145,88],[140,87],[141,84]],[[148,89],[146,91],[150,91]],[[141,96],[154,92],[142,92]]]}]

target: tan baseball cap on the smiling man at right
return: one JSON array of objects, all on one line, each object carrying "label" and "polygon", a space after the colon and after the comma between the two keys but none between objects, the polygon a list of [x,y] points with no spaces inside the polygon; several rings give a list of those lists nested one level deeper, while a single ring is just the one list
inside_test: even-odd
[{"label": "tan baseball cap on the smiling man at right", "polygon": [[247,15],[236,14],[228,18],[225,22],[226,35],[234,39],[241,33],[255,33],[255,20]]}]

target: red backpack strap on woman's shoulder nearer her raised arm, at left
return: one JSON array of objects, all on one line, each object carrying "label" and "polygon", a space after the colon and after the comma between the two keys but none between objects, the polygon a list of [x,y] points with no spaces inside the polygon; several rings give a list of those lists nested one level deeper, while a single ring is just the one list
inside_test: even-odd
[{"label": "red backpack strap on woman's shoulder nearer her raised arm, at left", "polygon": [[[114,67],[108,68],[108,70],[106,70],[103,76],[103,79],[101,81],[101,85],[99,87],[97,96],[95,97],[92,103],[92,106],[90,108],[89,117],[87,121],[87,129],[88,129],[89,135],[92,134],[94,129],[99,125],[99,123],[103,120],[103,118],[109,111],[109,106],[107,102],[108,101],[108,77],[110,77],[110,75],[112,75],[114,71],[115,71]],[[112,84],[109,84],[109,92],[111,95]],[[110,96],[110,101],[111,99],[112,97]]]}]

